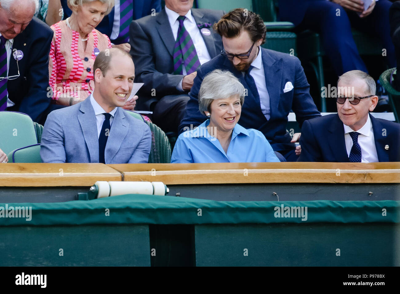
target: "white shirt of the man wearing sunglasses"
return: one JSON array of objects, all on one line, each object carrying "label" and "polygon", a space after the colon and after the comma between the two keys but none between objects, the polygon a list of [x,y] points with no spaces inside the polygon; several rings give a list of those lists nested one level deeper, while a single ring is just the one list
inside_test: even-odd
[{"label": "white shirt of the man wearing sunglasses", "polygon": [[[349,126],[344,126],[344,142],[346,143],[347,156],[350,156],[350,151],[353,146],[353,140],[350,137],[350,132],[354,132]],[[364,124],[358,135],[358,145],[361,147],[361,162],[378,162],[378,154],[376,153],[374,130],[372,129],[371,118],[368,115],[367,122]]]}]

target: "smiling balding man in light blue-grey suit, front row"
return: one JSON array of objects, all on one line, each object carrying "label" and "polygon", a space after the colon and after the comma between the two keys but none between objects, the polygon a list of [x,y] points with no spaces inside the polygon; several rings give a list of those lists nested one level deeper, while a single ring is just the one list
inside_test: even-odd
[{"label": "smiling balding man in light blue-grey suit, front row", "polygon": [[150,128],[121,108],[135,77],[131,56],[117,48],[103,50],[93,70],[93,93],[48,115],[40,145],[42,161],[147,163]]}]

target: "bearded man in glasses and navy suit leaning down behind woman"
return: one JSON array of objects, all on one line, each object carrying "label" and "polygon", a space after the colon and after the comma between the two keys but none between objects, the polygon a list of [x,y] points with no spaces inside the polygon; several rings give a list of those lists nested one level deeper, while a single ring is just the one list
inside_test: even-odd
[{"label": "bearded man in glasses and navy suit leaning down behind woman", "polygon": [[[229,70],[247,89],[240,124],[261,131],[274,151],[287,161],[296,161],[293,139],[286,131],[288,114],[293,110],[300,126],[304,120],[320,116],[309,92],[304,70],[295,56],[261,48],[266,27],[258,14],[236,8],[214,26],[222,36],[223,52],[197,71],[190,90],[180,132],[204,122],[199,112],[198,92],[206,74],[214,69]],[[280,158],[282,159],[282,158]]]}]

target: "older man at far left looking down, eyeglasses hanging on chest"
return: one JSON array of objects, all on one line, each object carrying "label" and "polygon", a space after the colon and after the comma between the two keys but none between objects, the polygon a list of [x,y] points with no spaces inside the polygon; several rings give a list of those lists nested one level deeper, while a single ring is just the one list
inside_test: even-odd
[{"label": "older man at far left looking down, eyeglasses hanging on chest", "polygon": [[44,124],[53,31],[34,13],[35,0],[0,0],[0,111],[28,114]]}]

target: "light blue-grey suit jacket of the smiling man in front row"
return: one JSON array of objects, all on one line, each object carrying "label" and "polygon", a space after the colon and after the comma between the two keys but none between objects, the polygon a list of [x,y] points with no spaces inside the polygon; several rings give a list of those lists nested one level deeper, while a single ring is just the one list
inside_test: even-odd
[{"label": "light blue-grey suit jacket of the smiling man in front row", "polygon": [[[151,147],[148,125],[120,107],[111,124],[106,164],[147,163]],[[99,162],[96,116],[90,98],[50,112],[40,144],[42,162]]]}]

